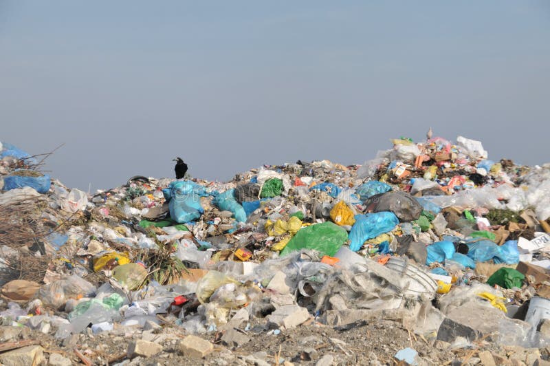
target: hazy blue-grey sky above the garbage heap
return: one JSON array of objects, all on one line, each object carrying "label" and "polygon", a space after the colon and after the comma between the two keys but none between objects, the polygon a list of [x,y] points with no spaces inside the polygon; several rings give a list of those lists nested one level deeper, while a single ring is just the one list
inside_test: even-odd
[{"label": "hazy blue-grey sky above the garbage heap", "polygon": [[390,138],[549,161],[550,2],[0,0],[0,141],[68,186],[362,163]]}]

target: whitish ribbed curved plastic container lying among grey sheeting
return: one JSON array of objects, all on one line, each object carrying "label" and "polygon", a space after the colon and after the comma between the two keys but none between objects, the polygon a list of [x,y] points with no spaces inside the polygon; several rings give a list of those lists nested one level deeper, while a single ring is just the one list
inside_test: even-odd
[{"label": "whitish ribbed curved plastic container lying among grey sheeting", "polygon": [[406,295],[434,297],[437,290],[437,282],[428,273],[409,263],[406,259],[392,257],[386,263],[386,267],[399,272],[401,277],[409,281],[408,289],[405,292]]}]

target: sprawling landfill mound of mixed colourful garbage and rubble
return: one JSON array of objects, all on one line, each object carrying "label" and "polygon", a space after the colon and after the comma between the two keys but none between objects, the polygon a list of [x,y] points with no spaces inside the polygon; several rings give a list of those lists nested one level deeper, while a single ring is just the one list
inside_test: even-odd
[{"label": "sprawling landfill mound of mixed colourful garbage and rubble", "polygon": [[391,142],[94,195],[0,144],[0,363],[549,363],[550,164]]}]

